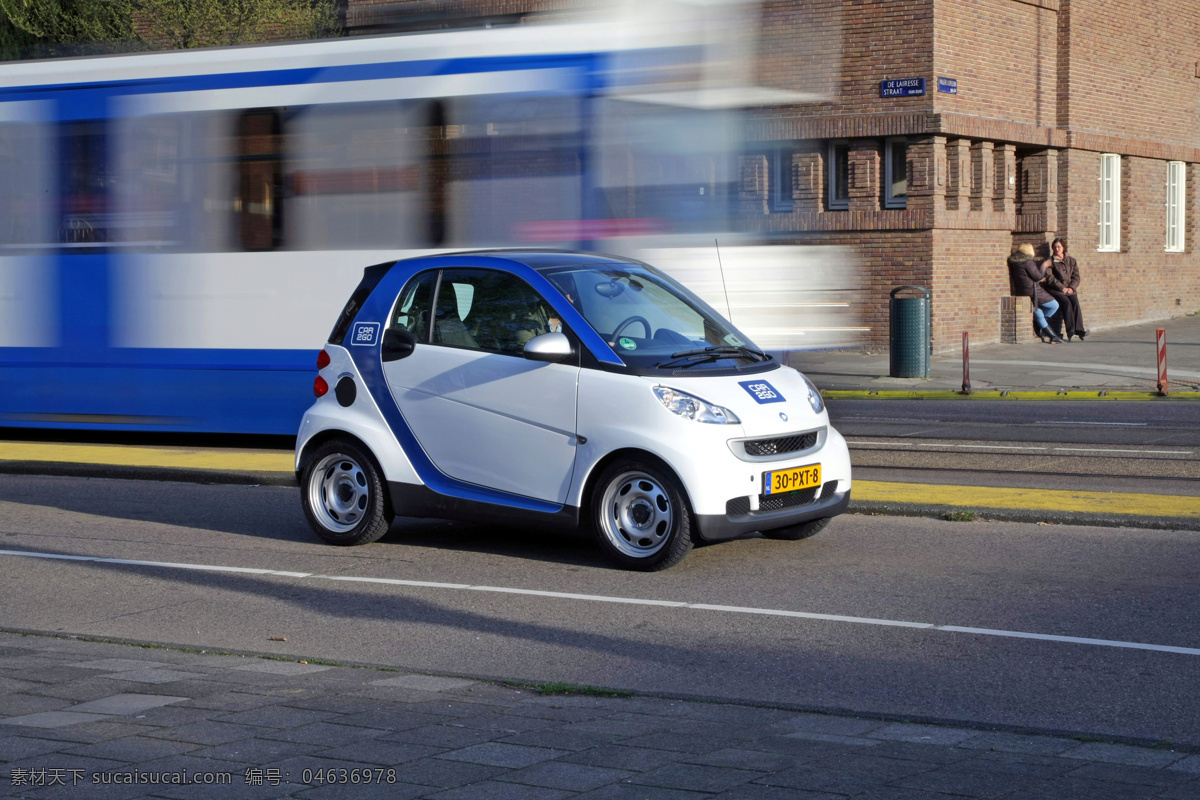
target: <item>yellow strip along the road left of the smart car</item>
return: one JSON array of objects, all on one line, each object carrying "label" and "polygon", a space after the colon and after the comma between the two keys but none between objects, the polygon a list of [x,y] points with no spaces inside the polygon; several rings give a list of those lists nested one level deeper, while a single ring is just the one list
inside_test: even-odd
[{"label": "yellow strip along the road left of the smart car", "polygon": [[211,469],[256,473],[292,473],[289,452],[190,450],[186,447],[131,447],[125,445],[71,445],[40,441],[0,441],[0,461],[113,464],[175,469]]}]

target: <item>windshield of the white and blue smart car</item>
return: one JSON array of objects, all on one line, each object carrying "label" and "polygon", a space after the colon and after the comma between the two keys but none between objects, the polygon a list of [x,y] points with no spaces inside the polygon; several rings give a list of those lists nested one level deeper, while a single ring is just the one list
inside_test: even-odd
[{"label": "windshield of the white and blue smart car", "polygon": [[542,275],[632,367],[706,369],[769,360],[703,301],[647,266],[559,266]]}]

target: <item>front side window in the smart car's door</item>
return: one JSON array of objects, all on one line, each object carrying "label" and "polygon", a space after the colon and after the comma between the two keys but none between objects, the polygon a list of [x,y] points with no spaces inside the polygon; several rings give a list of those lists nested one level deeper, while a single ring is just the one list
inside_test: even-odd
[{"label": "front side window in the smart car's door", "polygon": [[526,342],[552,330],[553,313],[533,287],[496,270],[443,270],[433,343],[521,355]]}]

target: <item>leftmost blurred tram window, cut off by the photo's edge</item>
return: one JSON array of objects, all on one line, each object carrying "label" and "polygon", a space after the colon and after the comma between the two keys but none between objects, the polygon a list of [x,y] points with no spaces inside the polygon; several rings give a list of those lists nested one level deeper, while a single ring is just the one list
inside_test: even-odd
[{"label": "leftmost blurred tram window, cut off by the photo's edge", "polygon": [[53,144],[46,124],[0,125],[0,245],[32,246],[50,239]]}]

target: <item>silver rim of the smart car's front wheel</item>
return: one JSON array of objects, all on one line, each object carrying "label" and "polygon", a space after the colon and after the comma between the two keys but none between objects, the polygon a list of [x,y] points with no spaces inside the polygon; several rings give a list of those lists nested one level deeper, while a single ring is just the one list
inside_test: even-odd
[{"label": "silver rim of the smart car's front wheel", "polygon": [[608,482],[600,500],[600,529],[624,555],[654,555],[671,536],[674,509],[658,479],[642,471],[622,473]]}]

